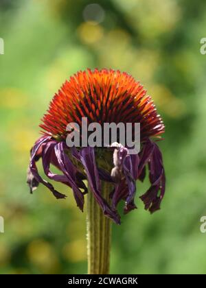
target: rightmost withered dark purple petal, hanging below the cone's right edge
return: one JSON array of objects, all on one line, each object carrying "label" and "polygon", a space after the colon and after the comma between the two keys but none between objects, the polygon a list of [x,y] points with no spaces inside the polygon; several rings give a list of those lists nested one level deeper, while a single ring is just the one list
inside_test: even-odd
[{"label": "rightmost withered dark purple petal, hanging below the cone's right edge", "polygon": [[161,152],[156,143],[153,143],[153,151],[150,156],[149,172],[151,186],[144,195],[141,195],[141,200],[145,204],[146,210],[153,213],[160,209],[161,200],[165,193],[165,171],[163,167],[163,159]]}]

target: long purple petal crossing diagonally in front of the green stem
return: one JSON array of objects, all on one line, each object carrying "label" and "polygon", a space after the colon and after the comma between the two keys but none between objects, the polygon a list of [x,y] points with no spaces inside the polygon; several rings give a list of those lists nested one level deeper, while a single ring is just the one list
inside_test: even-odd
[{"label": "long purple petal crossing diagonally in front of the green stem", "polygon": [[84,147],[79,152],[79,157],[87,173],[87,180],[89,182],[89,186],[91,187],[91,191],[93,192],[95,200],[97,200],[98,204],[102,208],[104,215],[113,219],[115,223],[120,224],[119,215],[116,211],[113,211],[113,209],[109,206],[109,204],[101,195],[100,177],[98,173],[98,168],[95,164],[95,154],[93,147]]}]

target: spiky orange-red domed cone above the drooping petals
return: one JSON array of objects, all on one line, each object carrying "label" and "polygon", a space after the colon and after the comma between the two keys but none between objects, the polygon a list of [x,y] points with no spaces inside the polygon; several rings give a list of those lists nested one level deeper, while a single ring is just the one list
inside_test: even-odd
[{"label": "spiky orange-red domed cone above the drooping petals", "polygon": [[159,137],[163,121],[144,87],[127,73],[102,69],[80,71],[62,85],[41,123],[43,134],[61,141],[68,123],[140,123],[141,141]]}]

